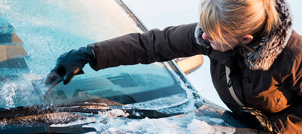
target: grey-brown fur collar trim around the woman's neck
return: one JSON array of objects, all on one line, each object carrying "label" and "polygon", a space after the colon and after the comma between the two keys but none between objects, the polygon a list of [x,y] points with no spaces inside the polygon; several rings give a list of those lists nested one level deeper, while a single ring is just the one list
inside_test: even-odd
[{"label": "grey-brown fur collar trim around the woman's neck", "polygon": [[[262,37],[260,43],[253,45],[252,51],[247,52],[244,56],[245,63],[251,70],[268,70],[291,36],[292,15],[289,5],[285,0],[276,0],[276,4],[281,16],[281,24],[268,35],[269,38]],[[201,37],[203,33],[198,23],[194,33],[196,41],[199,45],[209,48],[211,45],[208,40]]]}]

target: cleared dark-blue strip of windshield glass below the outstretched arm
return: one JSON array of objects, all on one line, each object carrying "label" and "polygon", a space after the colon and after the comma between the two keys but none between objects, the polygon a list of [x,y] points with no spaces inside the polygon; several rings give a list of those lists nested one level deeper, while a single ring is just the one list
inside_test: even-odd
[{"label": "cleared dark-blue strip of windshield glass below the outstretched arm", "polygon": [[61,104],[93,100],[94,103],[124,105],[183,92],[172,77],[156,74],[120,74],[111,77],[100,75],[90,79],[72,80],[67,85],[59,83],[47,95],[45,101]]}]

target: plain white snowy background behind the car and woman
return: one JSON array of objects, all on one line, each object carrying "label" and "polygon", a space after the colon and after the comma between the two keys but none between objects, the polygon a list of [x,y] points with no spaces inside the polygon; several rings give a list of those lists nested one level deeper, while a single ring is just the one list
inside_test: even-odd
[{"label": "plain white snowy background behind the car and woman", "polygon": [[[168,26],[177,26],[198,22],[200,0],[123,0],[123,2],[137,15],[150,30],[163,29]],[[302,34],[302,5],[301,0],[288,0],[294,15],[293,29]],[[199,93],[223,108],[226,105],[220,100],[210,77],[210,60],[204,56],[203,65],[187,77],[197,88]]]}]

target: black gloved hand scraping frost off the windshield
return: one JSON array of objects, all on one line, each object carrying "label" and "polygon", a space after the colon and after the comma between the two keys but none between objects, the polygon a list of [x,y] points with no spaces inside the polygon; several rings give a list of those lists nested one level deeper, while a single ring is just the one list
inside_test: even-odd
[{"label": "black gloved hand scraping frost off the windshield", "polygon": [[75,75],[84,74],[82,68],[94,60],[95,56],[91,46],[80,47],[64,53],[58,58],[55,68],[47,75],[44,82],[50,84],[64,80],[64,85],[66,85]]}]

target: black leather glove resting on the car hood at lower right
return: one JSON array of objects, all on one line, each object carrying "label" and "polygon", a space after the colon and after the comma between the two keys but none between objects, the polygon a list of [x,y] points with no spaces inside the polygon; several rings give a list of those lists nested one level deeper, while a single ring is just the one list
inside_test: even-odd
[{"label": "black leather glove resting on the car hood at lower right", "polygon": [[243,117],[250,120],[252,123],[257,124],[259,127],[263,128],[266,132],[270,134],[276,134],[275,126],[271,124],[269,119],[264,115],[264,113],[250,106],[240,106],[240,112]]}]

